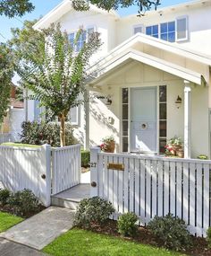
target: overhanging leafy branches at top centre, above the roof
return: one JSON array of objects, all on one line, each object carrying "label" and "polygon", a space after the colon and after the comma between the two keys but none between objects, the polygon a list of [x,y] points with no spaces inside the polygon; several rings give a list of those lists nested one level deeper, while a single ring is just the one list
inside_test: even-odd
[{"label": "overhanging leafy branches at top centre, above the roof", "polygon": [[130,7],[131,5],[138,6],[139,16],[143,15],[146,11],[152,7],[156,7],[160,4],[160,0],[72,0],[72,7],[77,11],[89,10],[89,4],[95,4],[97,7],[110,11],[112,9],[117,10],[119,7]]}]

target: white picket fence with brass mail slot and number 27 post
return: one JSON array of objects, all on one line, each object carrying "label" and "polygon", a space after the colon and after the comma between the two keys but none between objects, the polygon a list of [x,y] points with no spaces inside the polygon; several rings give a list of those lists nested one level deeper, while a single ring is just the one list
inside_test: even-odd
[{"label": "white picket fence with brass mail slot and number 27 post", "polygon": [[[122,163],[124,171],[108,169],[108,163]],[[211,161],[105,154],[92,148],[91,182],[97,186],[91,188],[91,195],[111,201],[117,213],[134,212],[140,225],[172,213],[185,221],[191,234],[206,236],[210,170]]]}]

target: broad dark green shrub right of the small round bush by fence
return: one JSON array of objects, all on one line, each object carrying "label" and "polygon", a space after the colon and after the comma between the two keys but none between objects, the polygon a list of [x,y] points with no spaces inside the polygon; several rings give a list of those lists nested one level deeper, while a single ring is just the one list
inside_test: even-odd
[{"label": "broad dark green shrub right of the small round bush by fence", "polygon": [[155,216],[148,223],[148,229],[156,236],[157,241],[166,248],[181,251],[190,247],[190,233],[185,222],[172,214]]}]

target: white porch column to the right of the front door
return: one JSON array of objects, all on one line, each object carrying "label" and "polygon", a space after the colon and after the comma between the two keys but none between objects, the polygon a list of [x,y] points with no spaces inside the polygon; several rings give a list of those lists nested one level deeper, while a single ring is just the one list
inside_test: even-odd
[{"label": "white porch column to the right of the front door", "polygon": [[190,82],[184,81],[184,158],[190,158],[191,145],[191,110],[190,110]]}]

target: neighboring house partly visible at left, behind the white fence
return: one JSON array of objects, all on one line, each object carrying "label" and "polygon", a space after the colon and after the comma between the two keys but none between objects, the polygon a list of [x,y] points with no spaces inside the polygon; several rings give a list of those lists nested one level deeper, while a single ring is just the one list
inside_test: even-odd
[{"label": "neighboring house partly visible at left, behind the white fence", "polygon": [[1,127],[0,143],[7,141],[19,141],[21,133],[21,123],[24,120],[24,103],[16,99],[16,88],[11,85],[11,99],[7,116]]}]

